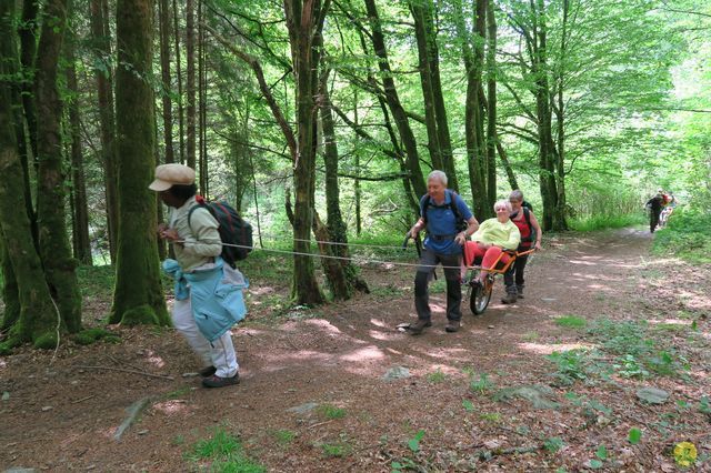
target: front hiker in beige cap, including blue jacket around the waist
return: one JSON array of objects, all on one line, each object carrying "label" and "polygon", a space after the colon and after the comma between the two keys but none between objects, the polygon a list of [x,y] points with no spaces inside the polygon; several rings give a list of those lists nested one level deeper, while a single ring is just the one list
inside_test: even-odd
[{"label": "front hiker in beige cap, including blue jacket around the waist", "polygon": [[162,164],[149,189],[171,208],[170,223],[160,224],[158,234],[176,252],[177,261],[163,262],[176,280],[173,325],[203,362],[202,385],[222,388],[239,383],[230,328],[244,316],[241,289],[247,284],[239,271],[218,258],[222,242],[217,220],[203,207],[192,210],[199,205],[194,179],[187,165]]}]

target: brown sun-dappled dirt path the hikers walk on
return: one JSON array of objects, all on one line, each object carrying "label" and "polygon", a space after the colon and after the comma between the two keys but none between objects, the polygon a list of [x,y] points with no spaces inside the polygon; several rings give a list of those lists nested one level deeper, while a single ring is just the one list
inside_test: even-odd
[{"label": "brown sun-dappled dirt path the hikers walk on", "polygon": [[[635,230],[549,239],[527,270],[525,299],[500,304],[498,281],[483,315],[471,315],[464,303],[455,334],[443,331],[441,292],[431,298],[433,326],[423,335],[394,329],[414,320],[410,271],[365,269],[372,294],[278,323],[259,322],[270,313],[269,299],[252,281],[254,316],[234,332],[242,383],[224,390],[181,376],[194,365],[172,331],[117,328],[122,343],[67,345],[51,365],[51,353],[2,358],[0,471],[197,470],[201,463],[187,452],[216,426],[239,434],[270,471],[579,471],[600,445],[605,469],[673,470],[667,450],[677,442],[694,441],[701,459],[711,452],[711,417],[698,409],[711,388],[711,271],[652,258],[649,244]],[[544,355],[600,343],[584,329],[559,326],[563,315],[589,324],[659,322],[663,339],[691,356],[689,369],[645,380],[590,372],[561,385]],[[384,381],[393,368],[410,376]],[[557,409],[497,395],[530,385],[550,389]],[[670,401],[639,403],[634,392],[645,385],[664,389]],[[146,396],[139,421],[116,441],[124,409]],[[628,441],[630,427],[643,433],[637,445]]]}]

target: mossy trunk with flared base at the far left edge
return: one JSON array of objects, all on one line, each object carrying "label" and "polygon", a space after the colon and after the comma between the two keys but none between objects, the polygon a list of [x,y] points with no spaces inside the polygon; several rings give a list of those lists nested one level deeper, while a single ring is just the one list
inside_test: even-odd
[{"label": "mossy trunk with flared base at the far left edge", "polygon": [[[54,328],[57,312],[47,286],[42,263],[32,243],[30,220],[24,209],[22,165],[18,154],[12,107],[12,83],[7,78],[17,77],[17,50],[14,41],[14,2],[0,2],[0,239],[2,239],[4,294],[2,328],[11,326],[10,338],[0,344],[0,353],[26,341],[50,348],[57,343]],[[11,265],[11,273],[8,268]],[[14,288],[12,284],[16,283]],[[13,294],[13,295],[14,295]],[[19,313],[17,302],[19,301]]]}]

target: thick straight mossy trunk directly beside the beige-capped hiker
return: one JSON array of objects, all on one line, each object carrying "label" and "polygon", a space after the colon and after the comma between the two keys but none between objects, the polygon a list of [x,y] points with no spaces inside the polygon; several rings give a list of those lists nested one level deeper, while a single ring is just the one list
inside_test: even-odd
[{"label": "thick straight mossy trunk directly beside the beige-capped hiker", "polygon": [[111,323],[169,325],[159,275],[154,170],[152,0],[118,0],[116,77],[120,225]]}]

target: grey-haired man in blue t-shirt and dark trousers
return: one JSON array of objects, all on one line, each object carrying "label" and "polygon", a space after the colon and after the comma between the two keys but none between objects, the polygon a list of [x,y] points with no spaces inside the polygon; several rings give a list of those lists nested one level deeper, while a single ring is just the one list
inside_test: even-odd
[{"label": "grey-haired man in blue t-shirt and dark trousers", "polygon": [[[441,263],[447,279],[447,332],[457,332],[462,318],[462,289],[460,264],[464,241],[477,231],[479,222],[461,197],[447,189],[447,174],[432,171],[427,179],[428,193],[420,199],[420,219],[410,236],[427,228],[424,251],[420,258],[414,276],[414,306],[418,322],[410,326],[410,333],[419,335],[424,328],[431,326],[428,283],[434,268]],[[458,228],[459,225],[465,229]]]}]

